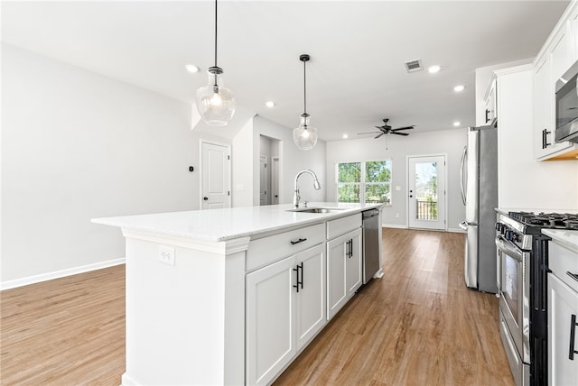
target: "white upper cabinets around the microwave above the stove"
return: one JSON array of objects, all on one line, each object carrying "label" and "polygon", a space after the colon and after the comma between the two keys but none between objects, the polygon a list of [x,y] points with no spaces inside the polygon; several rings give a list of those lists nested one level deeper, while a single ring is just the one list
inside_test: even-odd
[{"label": "white upper cabinets around the microwave above the stove", "polygon": [[573,142],[555,142],[555,83],[576,60],[573,17],[558,25],[535,60],[535,153],[540,161],[554,160],[578,149]]}]

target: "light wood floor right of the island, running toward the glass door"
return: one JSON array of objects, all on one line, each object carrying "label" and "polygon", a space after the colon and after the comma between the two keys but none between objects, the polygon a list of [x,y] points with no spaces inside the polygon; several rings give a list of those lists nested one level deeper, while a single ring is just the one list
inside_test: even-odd
[{"label": "light wood floor right of the island, running toward the glass door", "polygon": [[464,235],[386,228],[371,280],[275,385],[514,385],[498,299],[467,289]]}]

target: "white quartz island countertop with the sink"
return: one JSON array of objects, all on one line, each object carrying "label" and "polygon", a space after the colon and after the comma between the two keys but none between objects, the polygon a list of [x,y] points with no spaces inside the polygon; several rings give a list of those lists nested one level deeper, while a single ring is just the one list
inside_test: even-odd
[{"label": "white quartz island countertop with the sink", "polygon": [[191,210],[137,216],[93,218],[96,224],[118,226],[123,229],[153,232],[206,241],[226,241],[239,237],[275,232],[284,228],[322,223],[333,218],[349,216],[364,210],[379,208],[381,204],[343,204],[310,202],[308,207],[339,207],[333,213],[290,212],[291,204],[263,207],[231,207],[224,209]]}]

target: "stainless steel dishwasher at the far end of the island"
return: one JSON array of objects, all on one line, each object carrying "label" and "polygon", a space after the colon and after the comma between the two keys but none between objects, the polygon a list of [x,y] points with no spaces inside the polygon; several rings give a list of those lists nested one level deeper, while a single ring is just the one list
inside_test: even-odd
[{"label": "stainless steel dishwasher at the far end of the island", "polygon": [[366,284],[381,268],[381,225],[378,209],[361,212],[363,215],[363,284]]}]

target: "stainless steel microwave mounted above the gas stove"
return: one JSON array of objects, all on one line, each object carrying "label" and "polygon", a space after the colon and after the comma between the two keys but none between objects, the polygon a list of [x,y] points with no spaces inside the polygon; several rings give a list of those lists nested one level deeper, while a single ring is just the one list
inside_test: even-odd
[{"label": "stainless steel microwave mounted above the gas stove", "polygon": [[578,142],[578,61],[556,82],[555,142]]}]

